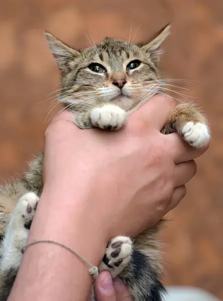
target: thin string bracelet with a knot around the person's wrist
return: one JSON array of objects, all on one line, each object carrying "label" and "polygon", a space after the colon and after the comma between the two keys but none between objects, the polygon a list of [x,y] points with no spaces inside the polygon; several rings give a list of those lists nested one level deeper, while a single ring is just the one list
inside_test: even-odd
[{"label": "thin string bracelet with a knot around the person's wrist", "polygon": [[94,280],[97,279],[98,277],[98,267],[97,266],[93,266],[90,262],[88,262],[85,258],[83,258],[81,255],[79,255],[77,252],[75,252],[74,250],[72,250],[71,248],[67,247],[66,245],[60,243],[60,242],[57,242],[57,241],[54,241],[54,240],[50,240],[50,239],[44,239],[44,240],[34,240],[32,242],[29,242],[28,244],[26,244],[23,248],[22,248],[22,253],[25,252],[26,248],[31,246],[31,245],[34,245],[34,244],[37,244],[37,243],[53,243],[53,244],[56,244],[56,245],[59,245],[65,249],[67,249],[68,251],[70,251],[71,253],[75,254],[77,257],[79,257],[80,259],[82,259],[86,264],[88,264],[90,266],[90,269],[89,269],[89,274],[92,275],[92,277],[94,278]]}]

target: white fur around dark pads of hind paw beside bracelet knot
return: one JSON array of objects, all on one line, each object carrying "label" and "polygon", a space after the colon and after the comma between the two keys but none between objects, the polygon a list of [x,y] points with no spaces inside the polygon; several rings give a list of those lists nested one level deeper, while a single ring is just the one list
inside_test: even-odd
[{"label": "white fur around dark pads of hind paw beside bracelet knot", "polygon": [[[121,242],[121,250],[117,257],[112,257],[112,252],[115,251],[115,248],[112,247],[114,243]],[[99,265],[99,271],[102,270],[108,270],[111,272],[112,277],[116,277],[118,274],[123,271],[123,269],[127,266],[131,259],[132,255],[132,241],[127,236],[116,236],[109,242],[109,246],[106,249],[106,255],[109,259],[109,265],[112,266],[112,268],[108,267],[103,261]],[[115,266],[115,263],[122,260],[122,263],[119,266]]]}]

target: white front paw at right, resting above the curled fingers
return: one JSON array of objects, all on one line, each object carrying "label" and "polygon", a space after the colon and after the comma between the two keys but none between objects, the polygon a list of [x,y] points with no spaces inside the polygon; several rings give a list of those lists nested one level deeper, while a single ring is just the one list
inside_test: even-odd
[{"label": "white front paw at right, resting above the curled fingers", "polygon": [[202,147],[206,145],[210,139],[207,125],[201,122],[187,122],[182,127],[181,132],[184,140],[194,147]]}]

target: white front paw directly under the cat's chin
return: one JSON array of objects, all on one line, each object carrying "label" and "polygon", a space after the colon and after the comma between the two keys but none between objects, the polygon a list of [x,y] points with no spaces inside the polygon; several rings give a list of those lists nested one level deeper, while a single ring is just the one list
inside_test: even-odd
[{"label": "white front paw directly under the cat's chin", "polygon": [[119,129],[126,120],[126,111],[114,104],[106,104],[91,111],[91,122],[100,128]]}]

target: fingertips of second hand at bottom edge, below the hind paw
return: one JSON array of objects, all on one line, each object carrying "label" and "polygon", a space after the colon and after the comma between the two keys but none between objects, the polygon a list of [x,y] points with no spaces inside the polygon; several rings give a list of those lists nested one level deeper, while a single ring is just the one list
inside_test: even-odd
[{"label": "fingertips of second hand at bottom edge, below the hind paw", "polygon": [[[97,301],[133,301],[127,287],[111,274],[103,271],[95,281],[94,292]],[[91,297],[88,298],[91,301]]]}]

